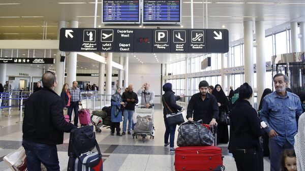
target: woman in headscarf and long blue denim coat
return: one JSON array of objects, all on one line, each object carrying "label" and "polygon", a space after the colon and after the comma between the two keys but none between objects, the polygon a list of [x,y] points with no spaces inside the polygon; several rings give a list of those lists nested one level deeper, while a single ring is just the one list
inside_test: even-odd
[{"label": "woman in headscarf and long blue denim coat", "polygon": [[117,88],[115,93],[111,95],[111,122],[112,125],[110,126],[111,135],[114,135],[114,130],[116,129],[116,135],[121,136],[119,123],[123,121],[122,112],[123,108],[121,105],[124,105],[121,96],[121,88]]}]

